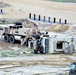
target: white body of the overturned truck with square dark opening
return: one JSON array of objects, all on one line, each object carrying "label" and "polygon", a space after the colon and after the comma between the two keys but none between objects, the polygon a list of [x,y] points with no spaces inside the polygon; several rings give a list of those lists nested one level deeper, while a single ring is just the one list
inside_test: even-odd
[{"label": "white body of the overturned truck with square dark opening", "polygon": [[48,32],[48,34],[42,35],[41,38],[44,53],[68,53],[69,48],[71,53],[76,51],[73,36]]}]

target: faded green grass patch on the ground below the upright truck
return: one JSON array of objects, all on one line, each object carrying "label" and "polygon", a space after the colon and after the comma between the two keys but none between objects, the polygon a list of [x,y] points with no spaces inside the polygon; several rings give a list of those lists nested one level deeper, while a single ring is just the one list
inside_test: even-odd
[{"label": "faded green grass patch on the ground below the upright truck", "polygon": [[19,56],[33,56],[31,53],[33,52],[33,49],[19,49],[19,50],[3,50],[0,51],[0,57],[19,57]]}]

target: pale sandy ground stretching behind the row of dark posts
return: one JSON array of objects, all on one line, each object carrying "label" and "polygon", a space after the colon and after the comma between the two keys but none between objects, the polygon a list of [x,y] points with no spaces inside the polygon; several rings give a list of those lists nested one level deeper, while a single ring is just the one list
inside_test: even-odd
[{"label": "pale sandy ground stretching behind the row of dark posts", "polygon": [[42,15],[46,17],[65,19],[69,23],[76,23],[76,3],[56,3],[43,0],[4,0],[11,7],[3,8],[5,14],[0,18],[25,18],[29,13]]}]

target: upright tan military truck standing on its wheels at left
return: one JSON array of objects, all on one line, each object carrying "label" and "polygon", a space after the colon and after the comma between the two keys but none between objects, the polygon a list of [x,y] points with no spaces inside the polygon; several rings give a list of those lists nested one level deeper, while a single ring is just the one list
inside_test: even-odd
[{"label": "upright tan military truck standing on its wheels at left", "polygon": [[16,40],[23,45],[32,29],[25,28],[22,23],[0,25],[0,36],[4,37],[5,42],[15,43]]}]

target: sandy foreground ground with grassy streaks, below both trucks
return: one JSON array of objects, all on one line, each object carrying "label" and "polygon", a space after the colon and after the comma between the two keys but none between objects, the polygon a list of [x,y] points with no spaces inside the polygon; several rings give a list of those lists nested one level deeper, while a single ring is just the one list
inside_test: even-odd
[{"label": "sandy foreground ground with grassy streaks, below both trucks", "polygon": [[76,62],[76,53],[36,55],[25,51],[25,46],[6,43],[1,39],[0,75],[68,75],[70,63]]}]

